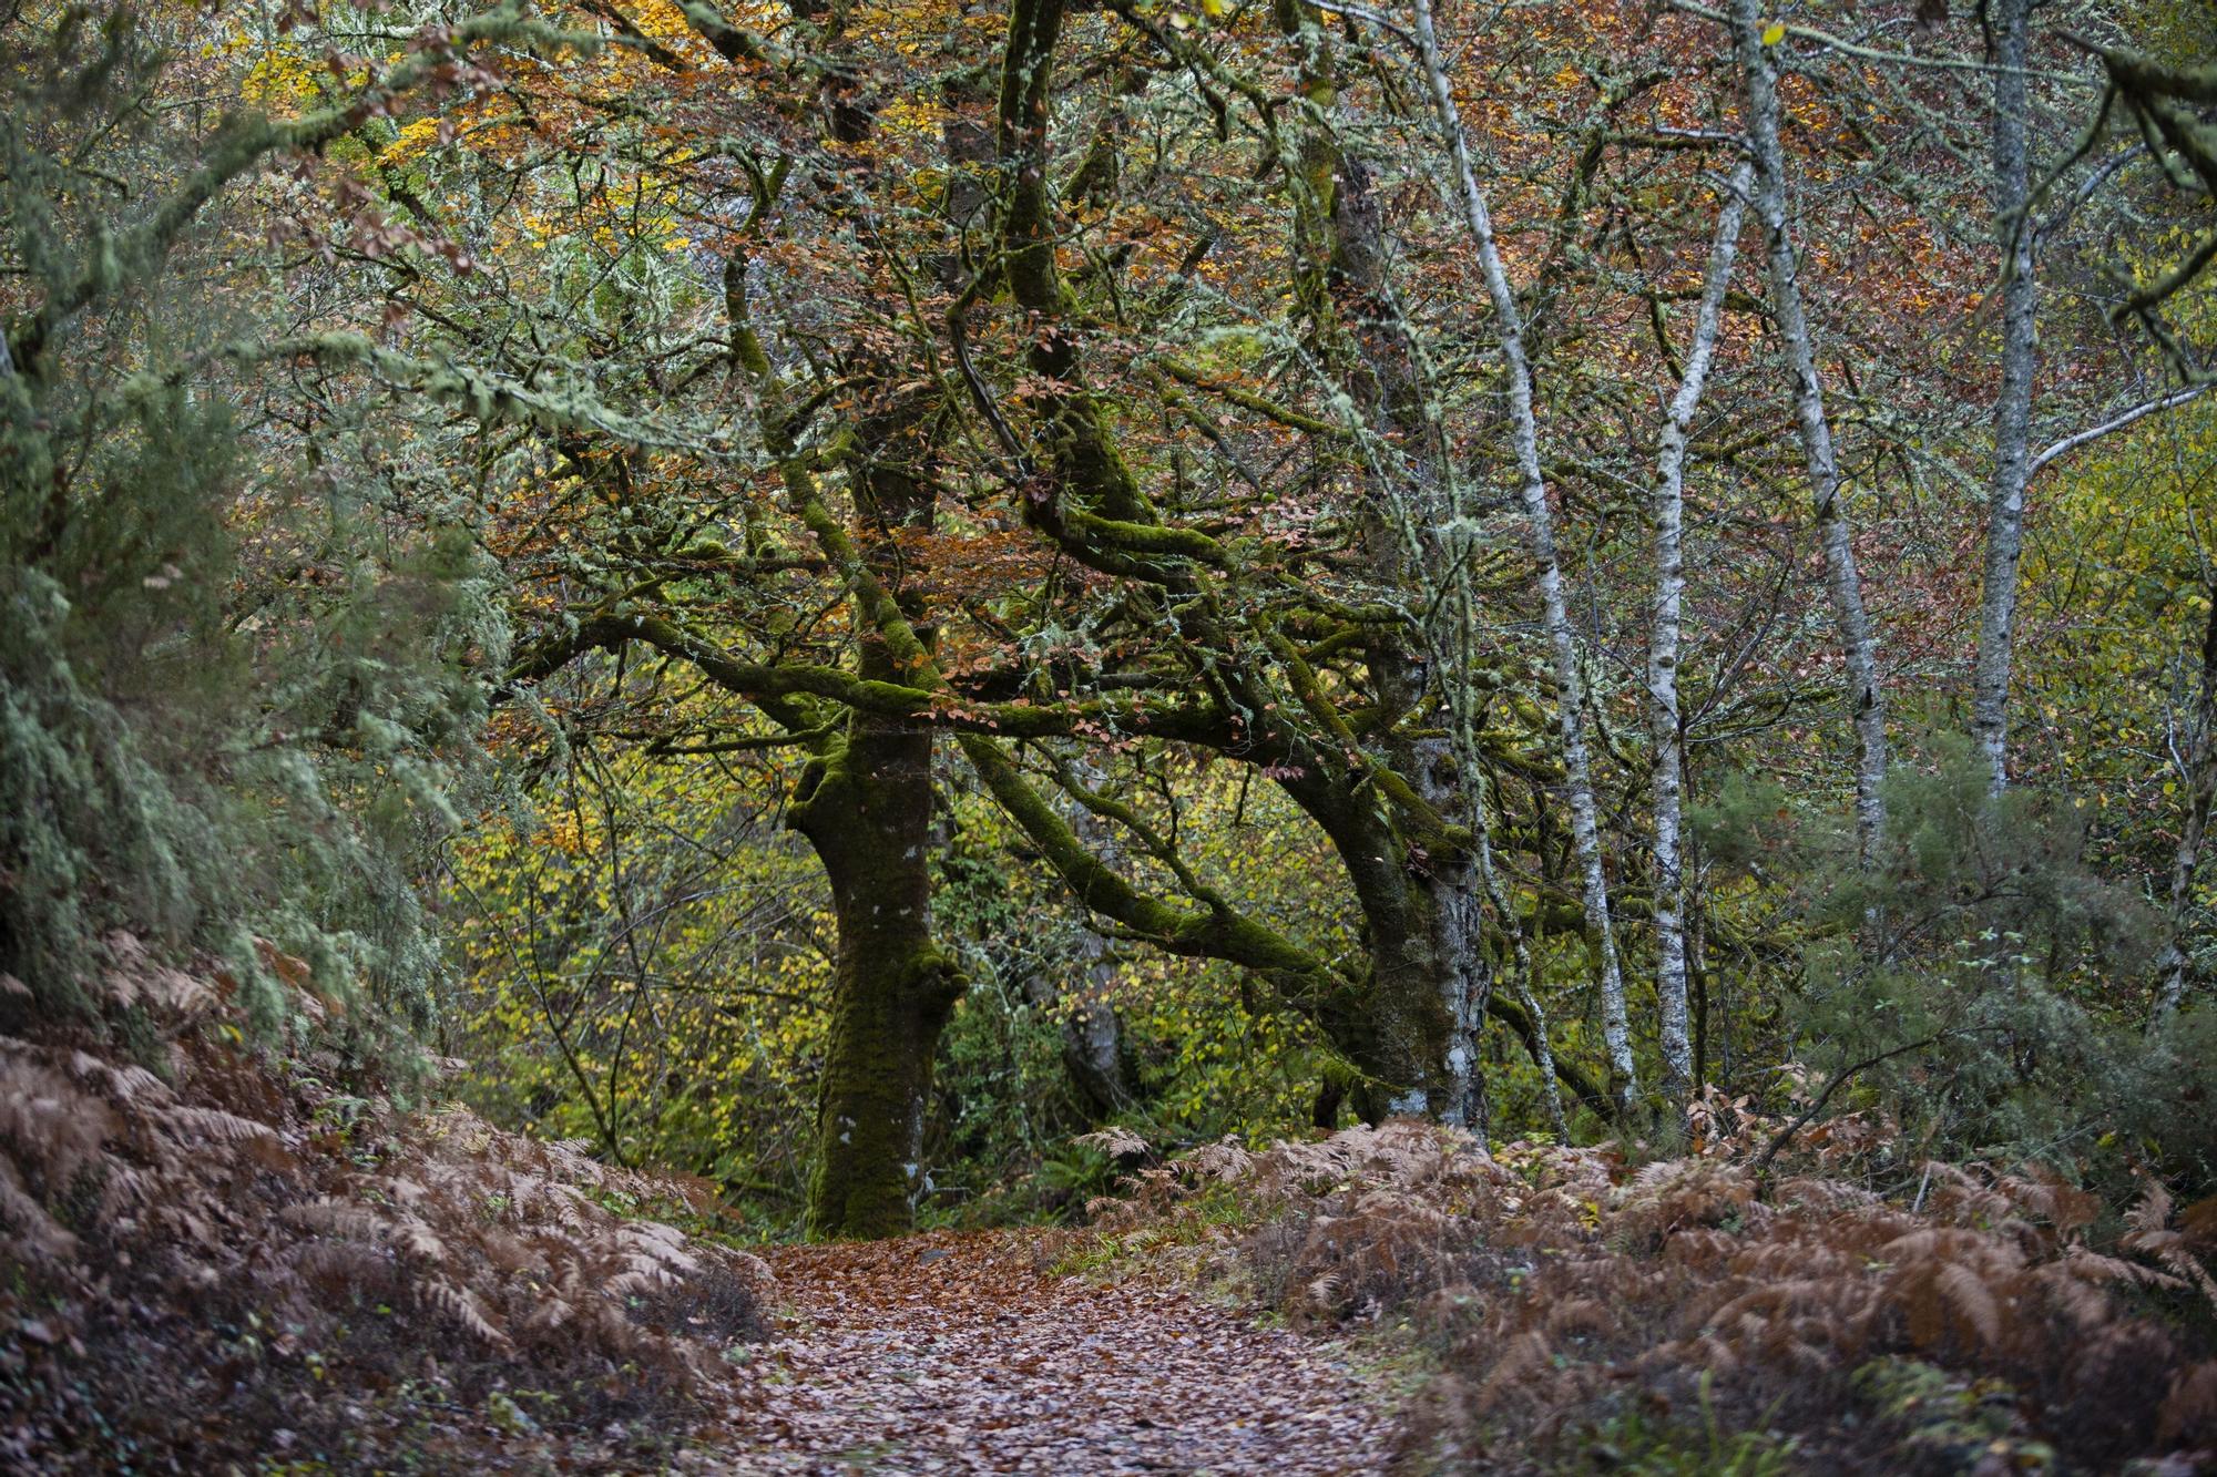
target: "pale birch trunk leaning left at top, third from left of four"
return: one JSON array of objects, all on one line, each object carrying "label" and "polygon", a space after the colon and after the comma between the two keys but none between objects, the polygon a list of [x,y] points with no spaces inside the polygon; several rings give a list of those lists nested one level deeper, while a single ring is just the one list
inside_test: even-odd
[{"label": "pale birch trunk leaning left at top, third from left of four", "polygon": [[1856,572],[1853,530],[1840,499],[1825,381],[1816,370],[1816,344],[1802,313],[1787,213],[1787,155],[1778,137],[1778,75],[1763,44],[1760,0],[1731,0],[1731,40],[1747,89],[1747,142],[1756,153],[1756,217],[1763,222],[1771,310],[1778,315],[1780,350],[1794,379],[1794,421],[1809,470],[1809,495],[1816,499],[1818,543],[1825,550],[1825,594],[1847,661],[1849,710],[1856,721],[1856,841],[1869,865],[1887,832],[1887,699],[1878,683],[1878,636],[1862,605],[1862,574]]}]

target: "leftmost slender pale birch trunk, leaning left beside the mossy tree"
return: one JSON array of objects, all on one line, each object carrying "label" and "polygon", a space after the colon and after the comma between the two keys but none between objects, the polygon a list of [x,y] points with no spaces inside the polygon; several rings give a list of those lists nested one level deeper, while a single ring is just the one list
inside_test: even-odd
[{"label": "leftmost slender pale birch trunk, leaning left beside the mossy tree", "polygon": [[1539,461],[1539,417],[1532,406],[1532,364],[1525,359],[1523,348],[1523,315],[1516,308],[1516,295],[1510,291],[1508,271],[1501,266],[1501,251],[1494,246],[1494,224],[1485,206],[1485,193],[1479,189],[1477,171],[1470,166],[1470,140],[1463,135],[1463,120],[1454,109],[1448,69],[1439,55],[1430,0],[1417,0],[1417,42],[1432,89],[1432,106],[1439,115],[1448,153],[1454,157],[1463,224],[1479,253],[1485,293],[1494,304],[1494,324],[1501,333],[1501,357],[1508,364],[1510,435],[1523,483],[1532,559],[1539,566],[1547,639],[1554,648],[1563,767],[1567,770],[1570,787],[1570,829],[1583,874],[1585,929],[1601,974],[1601,1029],[1610,1049],[1610,1091],[1618,1109],[1625,1109],[1638,1096],[1638,1071],[1632,1060],[1632,1018],[1625,1009],[1625,976],[1616,958],[1616,931],[1610,925],[1610,885],[1601,858],[1601,827],[1594,814],[1592,761],[1585,747],[1585,681],[1579,668],[1579,641],[1563,597],[1563,568],[1556,559],[1547,479]]}]

